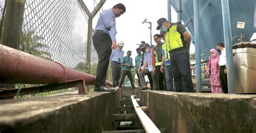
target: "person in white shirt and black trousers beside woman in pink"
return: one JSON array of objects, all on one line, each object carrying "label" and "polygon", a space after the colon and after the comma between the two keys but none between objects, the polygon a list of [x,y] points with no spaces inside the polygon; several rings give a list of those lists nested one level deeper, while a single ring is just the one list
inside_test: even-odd
[{"label": "person in white shirt and black trousers beside woman in pink", "polygon": [[219,59],[219,76],[220,76],[220,84],[222,86],[222,90],[224,93],[228,93],[228,86],[227,86],[227,68],[226,68],[226,50],[223,43],[218,43],[217,49],[221,52],[220,59]]}]

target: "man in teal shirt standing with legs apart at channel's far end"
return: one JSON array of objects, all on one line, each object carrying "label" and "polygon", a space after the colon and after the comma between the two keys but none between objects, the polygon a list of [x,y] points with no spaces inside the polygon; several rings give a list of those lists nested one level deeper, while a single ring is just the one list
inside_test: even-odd
[{"label": "man in teal shirt standing with legs apart at channel's far end", "polygon": [[124,78],[126,75],[128,75],[129,77],[129,80],[131,82],[131,85],[132,85],[132,89],[135,89],[135,86],[134,86],[134,82],[133,82],[133,78],[132,78],[132,72],[131,72],[131,69],[134,68],[133,67],[133,64],[132,64],[132,51],[127,51],[127,56],[124,56],[122,58],[122,62],[121,64],[123,65],[123,68],[122,68],[122,77],[121,77],[121,80],[120,80],[120,83],[119,83],[119,87],[122,87],[122,84],[124,82]]}]

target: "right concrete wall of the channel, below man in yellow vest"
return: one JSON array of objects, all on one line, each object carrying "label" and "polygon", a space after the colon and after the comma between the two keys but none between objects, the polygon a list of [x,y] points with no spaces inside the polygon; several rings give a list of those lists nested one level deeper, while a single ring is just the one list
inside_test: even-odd
[{"label": "right concrete wall of the channel, below man in yellow vest", "polygon": [[256,132],[256,95],[140,91],[166,132]]}]

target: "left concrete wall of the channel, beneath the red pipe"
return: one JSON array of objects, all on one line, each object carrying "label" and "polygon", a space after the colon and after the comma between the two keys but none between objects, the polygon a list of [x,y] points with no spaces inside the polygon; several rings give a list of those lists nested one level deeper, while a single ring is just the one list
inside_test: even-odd
[{"label": "left concrete wall of the channel, beneath the red pipe", "polygon": [[102,132],[112,130],[120,91],[0,100],[0,132]]}]

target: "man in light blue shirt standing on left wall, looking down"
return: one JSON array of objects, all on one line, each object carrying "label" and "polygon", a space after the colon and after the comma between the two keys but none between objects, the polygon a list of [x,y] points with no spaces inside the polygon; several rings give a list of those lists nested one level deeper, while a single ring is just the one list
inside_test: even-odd
[{"label": "man in light blue shirt standing on left wall, looking down", "polygon": [[104,10],[98,19],[95,27],[95,34],[92,36],[93,46],[98,54],[97,74],[95,80],[95,91],[113,91],[105,86],[107,68],[112,49],[117,48],[116,42],[116,18],[126,11],[122,3],[114,5],[112,9]]}]

